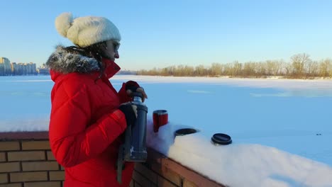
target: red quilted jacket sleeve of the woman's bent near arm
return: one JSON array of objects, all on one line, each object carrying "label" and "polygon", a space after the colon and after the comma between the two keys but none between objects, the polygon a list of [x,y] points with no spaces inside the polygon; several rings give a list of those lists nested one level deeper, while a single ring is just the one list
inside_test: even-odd
[{"label": "red quilted jacket sleeve of the woman's bent near arm", "polygon": [[125,115],[117,109],[87,128],[92,116],[89,102],[84,85],[60,86],[52,91],[50,147],[64,167],[96,157],[126,129]]}]

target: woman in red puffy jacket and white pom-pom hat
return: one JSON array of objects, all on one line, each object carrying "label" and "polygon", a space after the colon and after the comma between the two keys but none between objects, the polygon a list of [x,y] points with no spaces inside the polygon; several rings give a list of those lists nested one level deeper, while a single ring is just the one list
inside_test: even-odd
[{"label": "woman in red puffy jacket and white pom-pom hat", "polygon": [[[50,115],[50,147],[65,168],[65,187],[129,186],[133,163],[126,163],[122,184],[116,181],[119,145],[127,125],[135,123],[132,91],[145,91],[135,81],[117,92],[109,78],[120,70],[114,62],[121,35],[102,17],[73,18],[62,13],[55,20],[58,33],[75,46],[57,46],[46,63],[55,82]],[[124,103],[124,104],[121,104]]]}]

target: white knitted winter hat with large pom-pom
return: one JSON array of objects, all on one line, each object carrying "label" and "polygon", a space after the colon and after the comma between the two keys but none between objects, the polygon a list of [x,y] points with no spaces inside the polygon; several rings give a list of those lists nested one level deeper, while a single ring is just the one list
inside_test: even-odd
[{"label": "white knitted winter hat with large pom-pom", "polygon": [[107,18],[86,16],[73,18],[72,13],[61,13],[55,19],[60,35],[79,47],[87,47],[106,40],[121,40],[118,28]]}]

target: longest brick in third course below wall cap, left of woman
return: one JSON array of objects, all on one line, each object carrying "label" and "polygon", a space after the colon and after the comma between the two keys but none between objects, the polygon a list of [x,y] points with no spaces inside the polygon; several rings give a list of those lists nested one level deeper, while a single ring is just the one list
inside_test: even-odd
[{"label": "longest brick in third course below wall cap, left of woman", "polygon": [[54,161],[48,162],[22,162],[23,171],[52,171],[59,170],[59,164]]}]

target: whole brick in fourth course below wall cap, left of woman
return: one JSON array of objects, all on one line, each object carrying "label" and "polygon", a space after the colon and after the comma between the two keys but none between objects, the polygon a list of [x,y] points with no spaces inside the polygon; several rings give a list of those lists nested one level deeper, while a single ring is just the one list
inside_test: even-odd
[{"label": "whole brick in fourth course below wall cap, left of woman", "polygon": [[11,182],[25,182],[25,181],[47,181],[48,172],[21,172],[21,173],[11,173]]}]

